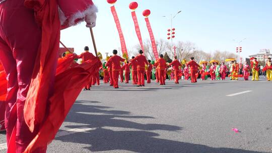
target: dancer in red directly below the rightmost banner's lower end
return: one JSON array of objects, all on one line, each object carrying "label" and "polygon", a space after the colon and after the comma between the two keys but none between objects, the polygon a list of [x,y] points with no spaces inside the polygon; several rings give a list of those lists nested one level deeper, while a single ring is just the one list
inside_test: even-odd
[{"label": "dancer in red directly below the rightmost banner's lower end", "polygon": [[165,85],[165,69],[167,68],[167,65],[165,59],[163,59],[163,54],[160,55],[160,58],[155,64],[158,65],[160,85]]}]

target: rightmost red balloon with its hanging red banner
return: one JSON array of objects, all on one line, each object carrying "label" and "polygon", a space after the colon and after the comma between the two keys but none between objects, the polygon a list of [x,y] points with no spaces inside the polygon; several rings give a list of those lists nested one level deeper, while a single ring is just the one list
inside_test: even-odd
[{"label": "rightmost red balloon with its hanging red banner", "polygon": [[150,39],[151,39],[153,53],[154,53],[155,59],[158,60],[159,59],[159,54],[158,54],[158,51],[157,51],[157,45],[156,45],[155,37],[154,37],[153,31],[152,31],[152,28],[151,28],[151,25],[150,25],[150,22],[149,22],[149,18],[148,18],[150,14],[151,14],[150,10],[145,10],[143,12],[143,16],[145,17],[145,21],[147,23],[148,32],[149,32]]}]

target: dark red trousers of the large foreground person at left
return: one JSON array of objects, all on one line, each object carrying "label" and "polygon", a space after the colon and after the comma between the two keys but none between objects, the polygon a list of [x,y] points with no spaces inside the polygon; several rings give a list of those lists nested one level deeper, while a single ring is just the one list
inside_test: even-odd
[{"label": "dark red trousers of the large foreground person at left", "polygon": [[[5,118],[8,152],[24,152],[37,134],[37,129],[32,133],[25,123],[24,105],[40,41],[40,27],[35,22],[33,10],[27,9],[24,1],[14,0],[1,3],[0,60],[8,80]],[[57,59],[57,57],[50,58]],[[51,82],[48,82],[50,85],[55,77],[55,69],[56,66],[52,67]],[[53,92],[52,87],[53,84],[49,87],[51,92]],[[46,152],[46,147],[38,148],[34,152]]]}]

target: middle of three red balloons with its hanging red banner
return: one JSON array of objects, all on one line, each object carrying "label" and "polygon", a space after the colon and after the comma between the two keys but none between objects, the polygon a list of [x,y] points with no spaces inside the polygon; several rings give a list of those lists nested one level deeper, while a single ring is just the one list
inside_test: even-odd
[{"label": "middle of three red balloons with its hanging red banner", "polygon": [[137,37],[138,37],[138,39],[139,39],[141,48],[142,48],[142,50],[144,51],[145,48],[144,48],[144,44],[143,44],[143,39],[142,39],[142,35],[141,35],[141,30],[140,30],[140,27],[139,27],[137,15],[136,15],[136,13],[135,13],[135,10],[136,10],[137,8],[138,8],[138,3],[137,3],[137,2],[131,2],[131,3],[129,4],[129,9],[131,10],[131,16],[132,16],[132,20],[133,20],[133,22],[134,22],[135,31],[136,31]]}]

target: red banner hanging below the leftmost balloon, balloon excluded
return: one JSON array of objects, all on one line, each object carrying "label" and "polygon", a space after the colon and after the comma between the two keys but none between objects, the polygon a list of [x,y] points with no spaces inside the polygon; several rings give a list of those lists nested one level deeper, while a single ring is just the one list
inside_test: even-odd
[{"label": "red banner hanging below the leftmost balloon, balloon excluded", "polygon": [[118,16],[117,16],[117,12],[116,12],[114,6],[110,7],[110,10],[111,10],[111,13],[113,15],[113,18],[114,18],[114,21],[115,21],[115,24],[116,24],[116,27],[117,27],[117,30],[118,30],[118,34],[119,34],[119,37],[120,37],[120,43],[121,43],[121,49],[122,49],[123,56],[124,56],[124,54],[127,56],[127,50],[126,50],[124,35],[123,35],[122,29],[121,29],[120,21],[119,21]]}]

